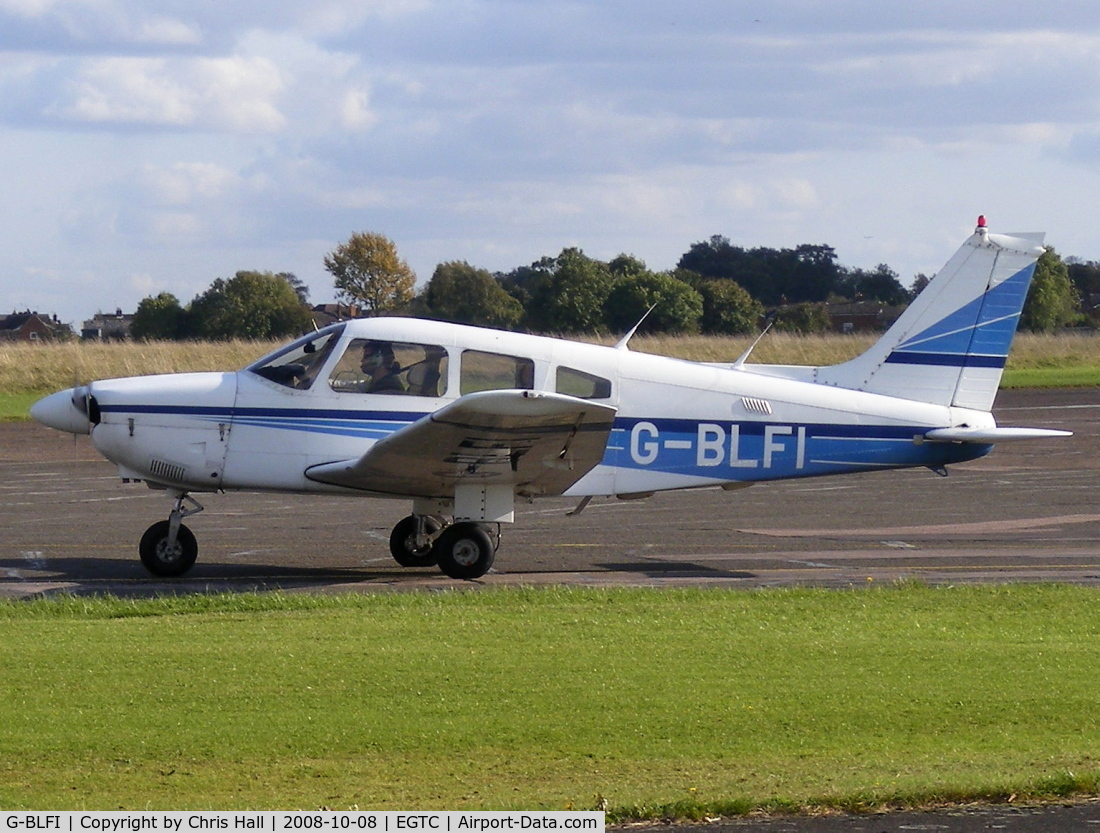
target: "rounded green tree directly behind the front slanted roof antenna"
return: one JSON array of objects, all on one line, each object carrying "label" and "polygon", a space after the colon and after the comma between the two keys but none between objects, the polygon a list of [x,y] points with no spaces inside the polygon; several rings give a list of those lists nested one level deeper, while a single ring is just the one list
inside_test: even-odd
[{"label": "rounded green tree directly behind the front slanted roof antenna", "polygon": [[623,273],[604,302],[604,319],[615,332],[626,332],[646,315],[649,332],[698,332],[703,296],[667,272]]}]

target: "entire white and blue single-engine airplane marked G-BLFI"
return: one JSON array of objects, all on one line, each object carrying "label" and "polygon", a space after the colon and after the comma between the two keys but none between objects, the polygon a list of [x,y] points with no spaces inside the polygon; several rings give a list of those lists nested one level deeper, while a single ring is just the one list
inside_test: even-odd
[{"label": "entire white and blue single-engine airplane marked G-BLFI", "polygon": [[[975,233],[867,352],[833,366],[697,363],[616,347],[407,318],[350,320],[235,373],[114,379],[55,393],[40,423],[91,442],[125,480],[174,498],[141,539],[156,576],[198,545],[196,492],[410,500],[389,548],[475,579],[517,498],[672,489],[982,457],[1043,234]],[[751,348],[750,348],[751,351]]]}]

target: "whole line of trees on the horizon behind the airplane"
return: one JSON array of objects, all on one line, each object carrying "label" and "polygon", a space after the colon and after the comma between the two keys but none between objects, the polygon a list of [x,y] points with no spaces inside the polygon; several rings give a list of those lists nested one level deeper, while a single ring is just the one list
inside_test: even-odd
[{"label": "whole line of trees on the horizon behind the airplane", "polygon": [[[905,288],[887,264],[837,262],[827,245],[745,249],[722,235],[694,243],[676,267],[653,272],[620,254],[604,262],[575,248],[510,272],[464,261],[439,264],[424,287],[384,234],[356,232],[324,257],[337,297],[367,316],[410,315],[480,327],[549,333],[625,332],[645,317],[648,332],[743,335],[766,319],[779,330],[829,329],[828,305],[873,302],[901,308],[927,284]],[[1040,259],[1021,327],[1090,324],[1100,263]],[[290,273],[238,272],[218,278],[186,307],[170,293],[141,302],[136,339],[284,338],[311,326],[308,289]]]}]

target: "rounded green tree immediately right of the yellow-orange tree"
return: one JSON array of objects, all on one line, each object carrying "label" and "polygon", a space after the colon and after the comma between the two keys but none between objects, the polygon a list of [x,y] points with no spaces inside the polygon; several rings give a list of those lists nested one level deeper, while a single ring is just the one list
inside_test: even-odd
[{"label": "rounded green tree immediately right of the yellow-orange tree", "polygon": [[476,327],[513,329],[524,317],[522,305],[493,275],[465,262],[436,266],[417,303],[429,318]]}]

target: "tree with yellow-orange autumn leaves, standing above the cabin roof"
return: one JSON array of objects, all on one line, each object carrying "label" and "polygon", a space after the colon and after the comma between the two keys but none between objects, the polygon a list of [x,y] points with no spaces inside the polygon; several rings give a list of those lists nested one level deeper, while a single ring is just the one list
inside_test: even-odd
[{"label": "tree with yellow-orange autumn leaves, standing above the cabin roof", "polygon": [[386,315],[413,300],[416,275],[384,234],[355,232],[324,256],[324,268],[336,278],[340,298],[369,315]]}]

